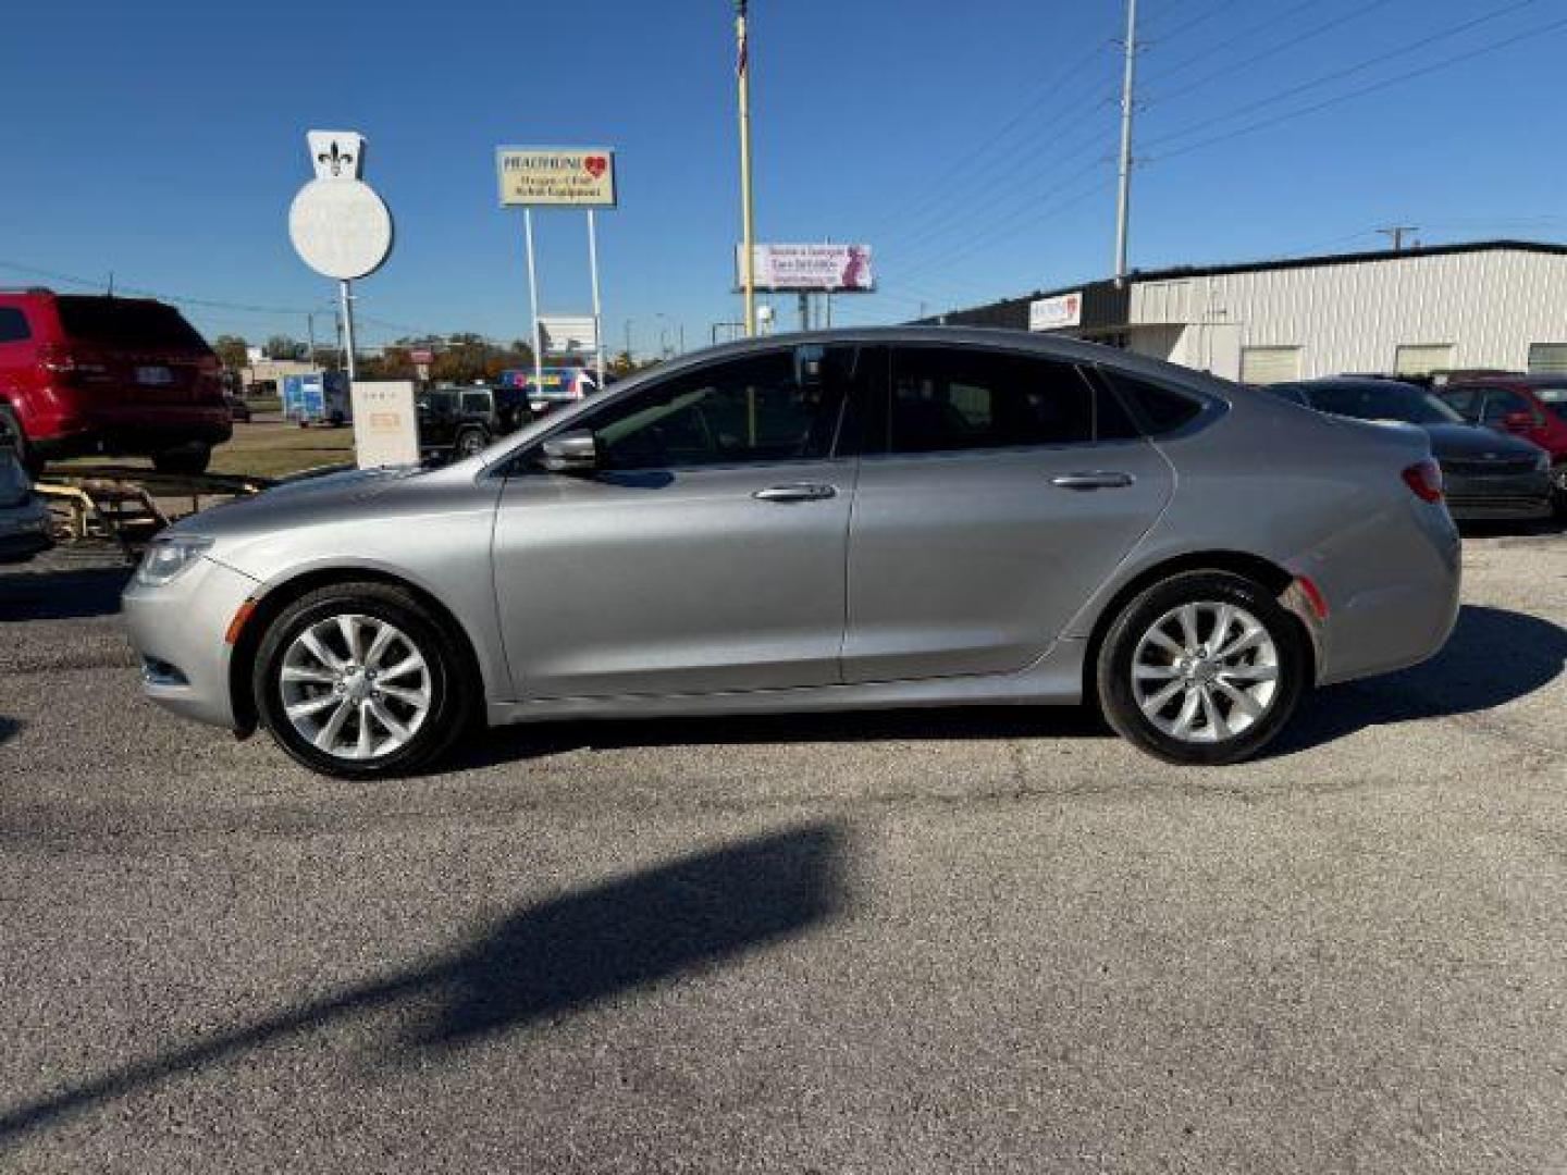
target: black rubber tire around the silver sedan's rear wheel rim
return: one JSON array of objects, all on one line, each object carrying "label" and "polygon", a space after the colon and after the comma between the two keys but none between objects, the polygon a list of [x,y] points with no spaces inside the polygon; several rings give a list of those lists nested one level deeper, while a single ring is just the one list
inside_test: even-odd
[{"label": "black rubber tire around the silver sedan's rear wheel rim", "polygon": [[[1142,711],[1135,696],[1133,658],[1139,644],[1161,617],[1188,603],[1233,605],[1250,613],[1271,638],[1277,660],[1276,688],[1261,714],[1244,730],[1218,741],[1189,741],[1161,730]],[[1310,636],[1301,619],[1280,605],[1266,588],[1232,572],[1197,570],[1155,583],[1120,609],[1098,650],[1095,686],[1105,719],[1133,746],[1166,763],[1218,766],[1250,758],[1283,728],[1310,685]],[[1178,718],[1186,696],[1177,692],[1156,713]],[[1230,721],[1236,714],[1233,703],[1227,697],[1221,699],[1219,692],[1213,697],[1221,718]],[[1197,721],[1207,727],[1205,714],[1199,714]]]}]

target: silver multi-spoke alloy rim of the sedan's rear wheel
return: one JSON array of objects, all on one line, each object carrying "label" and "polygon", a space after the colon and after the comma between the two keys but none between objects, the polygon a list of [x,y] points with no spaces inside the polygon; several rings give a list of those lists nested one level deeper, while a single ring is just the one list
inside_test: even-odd
[{"label": "silver multi-spoke alloy rim of the sedan's rear wheel", "polygon": [[1149,625],[1131,656],[1131,692],[1158,730],[1182,743],[1227,743],[1279,696],[1279,645],[1244,608],[1200,600]]}]

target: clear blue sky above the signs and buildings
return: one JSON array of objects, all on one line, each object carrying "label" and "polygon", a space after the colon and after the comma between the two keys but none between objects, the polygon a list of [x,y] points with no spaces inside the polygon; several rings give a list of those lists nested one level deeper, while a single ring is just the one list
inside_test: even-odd
[{"label": "clear blue sky above the signs and buildings", "polygon": [[[1108,273],[1122,0],[754,0],[752,14],[758,237],[873,244],[884,293],[840,321]],[[1135,265],[1373,248],[1381,224],[1432,243],[1567,238],[1561,0],[1142,0],[1142,14]],[[298,312],[334,291],[295,257],[287,208],[310,175],[306,128],[346,127],[370,138],[367,179],[398,224],[359,287],[370,343],[527,335],[500,143],[617,147],[622,205],[600,221],[617,345],[628,318],[647,351],[738,316],[729,0],[31,3],[6,16],[0,75],[5,284],[39,280],[14,266],[113,269],[121,287],[288,310],[186,306],[208,335],[302,337]],[[1362,88],[1376,89],[1340,100]],[[544,309],[586,310],[583,216],[541,215],[539,238]]]}]

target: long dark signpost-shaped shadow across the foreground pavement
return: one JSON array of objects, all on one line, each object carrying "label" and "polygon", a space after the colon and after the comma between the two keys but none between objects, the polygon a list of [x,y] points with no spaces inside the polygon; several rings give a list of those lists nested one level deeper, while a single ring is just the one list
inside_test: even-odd
[{"label": "long dark signpost-shaped shadow across the foreground pavement", "polygon": [[[848,902],[846,849],[840,824],[796,826],[519,909],[451,954],[0,1108],[0,1148],[71,1114],[343,1017],[401,1012],[407,1023],[392,1045],[396,1061],[675,981],[834,920]],[[155,1026],[149,1034],[158,1034]]]}]

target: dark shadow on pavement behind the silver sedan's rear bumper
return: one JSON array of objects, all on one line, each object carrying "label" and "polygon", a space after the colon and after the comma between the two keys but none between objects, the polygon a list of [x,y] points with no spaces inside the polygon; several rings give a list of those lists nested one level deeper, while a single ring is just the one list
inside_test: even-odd
[{"label": "dark shadow on pavement behind the silver sedan's rear bumper", "polygon": [[1567,667],[1567,628],[1506,608],[1465,605],[1429,661],[1308,694],[1268,755],[1332,743],[1368,725],[1473,714],[1554,682]]}]

